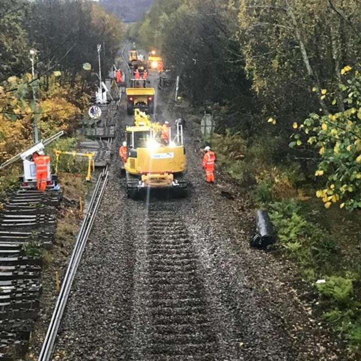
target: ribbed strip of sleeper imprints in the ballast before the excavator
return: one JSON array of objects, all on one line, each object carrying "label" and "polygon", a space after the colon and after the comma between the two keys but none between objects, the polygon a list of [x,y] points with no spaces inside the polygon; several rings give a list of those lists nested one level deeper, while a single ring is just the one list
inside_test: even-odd
[{"label": "ribbed strip of sleeper imprints in the ballast before the excavator", "polygon": [[145,222],[147,266],[142,298],[148,332],[137,345],[149,361],[202,360],[217,357],[215,325],[198,272],[192,240],[174,209],[150,206]]}]

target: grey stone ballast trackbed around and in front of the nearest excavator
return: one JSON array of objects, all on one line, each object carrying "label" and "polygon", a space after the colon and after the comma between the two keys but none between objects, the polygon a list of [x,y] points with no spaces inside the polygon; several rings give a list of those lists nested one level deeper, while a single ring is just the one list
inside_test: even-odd
[{"label": "grey stone ballast trackbed around and in front of the nearest excavator", "polygon": [[[165,91],[157,106],[177,115]],[[116,145],[126,123],[122,108]],[[127,199],[114,157],[54,359],[345,360],[286,267],[249,248],[247,199],[219,172],[205,183],[191,124],[185,136],[186,199]]]}]

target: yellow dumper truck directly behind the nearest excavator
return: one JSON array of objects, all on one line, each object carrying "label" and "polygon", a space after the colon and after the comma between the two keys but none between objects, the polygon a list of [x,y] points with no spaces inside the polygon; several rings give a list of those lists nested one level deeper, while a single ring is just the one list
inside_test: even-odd
[{"label": "yellow dumper truck directly behind the nearest excavator", "polygon": [[[133,80],[133,79],[132,79]],[[145,82],[139,79],[135,82]],[[154,113],[154,88],[126,88],[127,96],[127,114],[132,115],[133,110],[138,108],[149,114]]]}]

